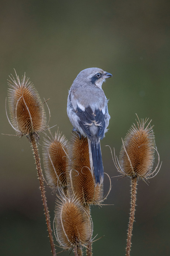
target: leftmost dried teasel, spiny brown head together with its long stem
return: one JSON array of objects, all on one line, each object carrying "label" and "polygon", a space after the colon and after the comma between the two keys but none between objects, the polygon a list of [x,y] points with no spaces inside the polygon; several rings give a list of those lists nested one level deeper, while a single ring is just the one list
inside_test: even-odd
[{"label": "leftmost dried teasel, spiny brown head together with its long stem", "polygon": [[33,147],[38,177],[40,180],[41,196],[43,199],[50,244],[52,254],[54,256],[56,253],[52,238],[50,216],[47,207],[47,200],[45,197],[42,169],[37,147],[37,141],[39,139],[38,133],[43,131],[47,126],[44,105],[40,100],[37,90],[35,90],[29,79],[26,79],[25,75],[21,81],[17,74],[16,79],[13,76],[11,76],[10,79],[11,80],[8,81],[8,85],[10,86],[8,90],[8,105],[11,121],[9,118],[8,121],[18,136],[26,135],[28,137]]}]

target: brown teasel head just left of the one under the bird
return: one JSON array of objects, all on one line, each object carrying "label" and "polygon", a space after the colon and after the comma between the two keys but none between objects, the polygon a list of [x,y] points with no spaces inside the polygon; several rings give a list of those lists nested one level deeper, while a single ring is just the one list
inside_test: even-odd
[{"label": "brown teasel head just left of the one under the bird", "polygon": [[43,162],[48,184],[57,189],[58,185],[66,188],[66,155],[68,140],[59,130],[53,136],[44,139]]}]

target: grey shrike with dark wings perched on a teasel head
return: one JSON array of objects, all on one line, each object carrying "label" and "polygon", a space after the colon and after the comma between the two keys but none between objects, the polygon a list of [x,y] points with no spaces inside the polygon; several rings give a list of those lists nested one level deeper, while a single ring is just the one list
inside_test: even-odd
[{"label": "grey shrike with dark wings perched on a teasel head", "polygon": [[100,68],[86,68],[75,78],[69,90],[67,114],[73,130],[87,137],[91,170],[95,183],[103,181],[103,163],[100,140],[109,125],[108,100],[102,83],[112,74]]}]

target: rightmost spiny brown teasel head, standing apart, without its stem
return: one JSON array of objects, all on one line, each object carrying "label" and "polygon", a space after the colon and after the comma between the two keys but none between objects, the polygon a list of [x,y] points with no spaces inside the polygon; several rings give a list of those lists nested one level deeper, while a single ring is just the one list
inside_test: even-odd
[{"label": "rightmost spiny brown teasel head, standing apart, without its stem", "polygon": [[[153,126],[150,126],[152,120],[149,123],[148,120],[138,118],[137,125],[133,124],[125,139],[122,140],[119,161],[115,157],[116,168],[125,176],[148,179],[153,178],[160,169],[158,168],[159,153],[155,145]],[[158,163],[153,171],[155,152],[158,155]]]}]

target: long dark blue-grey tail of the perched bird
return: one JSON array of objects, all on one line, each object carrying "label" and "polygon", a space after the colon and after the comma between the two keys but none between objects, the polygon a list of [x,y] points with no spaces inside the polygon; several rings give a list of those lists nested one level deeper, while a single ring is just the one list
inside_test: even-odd
[{"label": "long dark blue-grey tail of the perched bird", "polygon": [[95,183],[101,184],[103,181],[103,163],[102,163],[102,154],[101,154],[101,145],[100,139],[95,138],[90,140],[88,138],[89,144],[89,158],[90,158],[90,167],[93,170],[95,176]]}]

